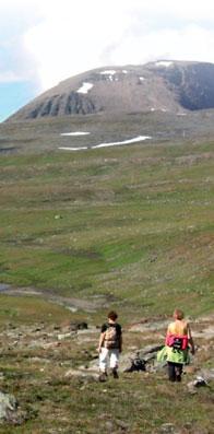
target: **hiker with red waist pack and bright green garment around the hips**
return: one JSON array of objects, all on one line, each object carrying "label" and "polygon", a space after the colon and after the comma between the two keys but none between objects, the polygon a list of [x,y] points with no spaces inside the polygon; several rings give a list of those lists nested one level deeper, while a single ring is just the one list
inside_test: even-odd
[{"label": "hiker with red waist pack and bright green garment around the hips", "polygon": [[182,366],[188,362],[189,348],[194,354],[194,343],[190,325],[180,309],[174,312],[174,322],[170,322],[166,335],[166,361],[169,382],[181,382]]}]

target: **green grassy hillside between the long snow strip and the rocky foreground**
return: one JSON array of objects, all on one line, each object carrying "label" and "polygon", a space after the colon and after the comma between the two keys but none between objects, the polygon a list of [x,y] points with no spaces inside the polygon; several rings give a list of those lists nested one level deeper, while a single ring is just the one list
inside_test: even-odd
[{"label": "green grassy hillside between the long snow strip and the rocky foreground", "polygon": [[[213,302],[213,143],[1,159],[1,281],[146,314]],[[190,296],[191,295],[191,296]]]}]

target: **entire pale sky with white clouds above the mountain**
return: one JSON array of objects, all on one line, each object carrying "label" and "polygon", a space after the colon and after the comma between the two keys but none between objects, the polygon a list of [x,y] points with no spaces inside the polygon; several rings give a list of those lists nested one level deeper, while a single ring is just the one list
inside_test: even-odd
[{"label": "entire pale sky with white clouds above the mountain", "polygon": [[213,47],[213,0],[0,0],[0,121],[81,72]]}]

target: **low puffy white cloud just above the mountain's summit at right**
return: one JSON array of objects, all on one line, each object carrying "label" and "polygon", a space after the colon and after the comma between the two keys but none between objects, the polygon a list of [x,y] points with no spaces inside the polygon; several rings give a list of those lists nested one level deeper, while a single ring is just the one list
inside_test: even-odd
[{"label": "low puffy white cloud just above the mountain's summit at right", "polygon": [[198,25],[182,30],[151,31],[140,37],[134,34],[121,40],[111,51],[111,61],[124,63],[127,52],[131,63],[156,59],[214,61],[214,32]]}]

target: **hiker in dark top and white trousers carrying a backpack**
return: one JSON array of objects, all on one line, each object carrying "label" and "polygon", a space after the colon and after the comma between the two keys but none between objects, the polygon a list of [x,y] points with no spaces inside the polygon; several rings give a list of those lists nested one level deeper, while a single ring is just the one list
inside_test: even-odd
[{"label": "hiker in dark top and white trousers carrying a backpack", "polygon": [[102,326],[98,353],[99,353],[99,380],[107,379],[107,366],[109,363],[110,374],[118,378],[119,353],[122,351],[122,329],[117,322],[118,315],[111,310],[108,321]]}]

